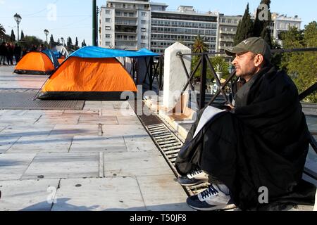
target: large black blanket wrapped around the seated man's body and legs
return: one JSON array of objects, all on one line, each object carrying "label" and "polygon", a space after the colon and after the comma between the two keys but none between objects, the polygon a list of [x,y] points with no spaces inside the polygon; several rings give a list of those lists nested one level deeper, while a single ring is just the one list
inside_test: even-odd
[{"label": "large black blanket wrapped around the seated man's body and legs", "polygon": [[242,210],[259,205],[261,187],[268,188],[270,200],[292,193],[302,180],[309,149],[309,131],[290,77],[268,67],[250,84],[235,96],[239,107],[214,117],[192,139],[199,119],[195,122],[175,162],[180,174],[200,167],[223,181]]}]

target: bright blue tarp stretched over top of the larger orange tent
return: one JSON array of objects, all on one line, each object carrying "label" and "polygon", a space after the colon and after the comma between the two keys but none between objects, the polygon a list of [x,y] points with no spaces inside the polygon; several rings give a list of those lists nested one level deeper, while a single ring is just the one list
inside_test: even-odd
[{"label": "bright blue tarp stretched over top of the larger orange tent", "polygon": [[75,51],[70,54],[70,57],[80,57],[80,58],[116,58],[116,57],[151,57],[159,56],[148,49],[141,49],[139,51],[126,51],[118,49],[104,49],[97,46],[85,46],[82,49]]}]

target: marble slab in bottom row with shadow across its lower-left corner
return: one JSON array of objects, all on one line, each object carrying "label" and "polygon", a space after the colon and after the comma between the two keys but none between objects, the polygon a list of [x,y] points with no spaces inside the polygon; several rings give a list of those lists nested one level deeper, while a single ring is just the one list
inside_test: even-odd
[{"label": "marble slab in bottom row with shadow across its lower-left corner", "polygon": [[144,211],[136,179],[62,179],[52,211]]}]

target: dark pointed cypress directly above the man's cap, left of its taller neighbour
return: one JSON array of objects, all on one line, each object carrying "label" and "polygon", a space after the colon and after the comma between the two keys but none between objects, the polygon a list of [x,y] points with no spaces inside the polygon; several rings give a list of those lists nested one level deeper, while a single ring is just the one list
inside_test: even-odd
[{"label": "dark pointed cypress directly above the man's cap, left of its taller neighbour", "polygon": [[239,44],[244,39],[253,36],[253,22],[251,20],[251,15],[249,13],[249,4],[247,4],[247,8],[244,11],[244,15],[242,20],[239,22],[237,26],[237,33],[235,34],[234,45]]}]

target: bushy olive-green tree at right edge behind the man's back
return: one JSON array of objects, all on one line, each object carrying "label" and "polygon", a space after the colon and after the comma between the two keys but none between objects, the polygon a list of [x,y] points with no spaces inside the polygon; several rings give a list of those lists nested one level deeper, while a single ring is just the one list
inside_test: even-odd
[{"label": "bushy olive-green tree at right edge behind the man's back", "polygon": [[[281,35],[284,49],[316,47],[317,23],[313,21],[304,30],[290,27],[288,32]],[[297,85],[299,92],[305,91],[317,82],[317,54],[316,52],[293,52],[282,56],[282,67]],[[317,103],[317,93],[304,99]]]}]

